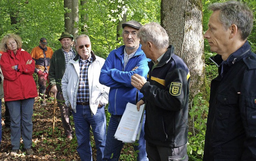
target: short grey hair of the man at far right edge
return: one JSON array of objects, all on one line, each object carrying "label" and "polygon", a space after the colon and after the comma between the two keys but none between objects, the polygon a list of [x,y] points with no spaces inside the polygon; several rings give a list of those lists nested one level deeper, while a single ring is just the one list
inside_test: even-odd
[{"label": "short grey hair of the man at far right edge", "polygon": [[241,39],[246,40],[250,35],[253,26],[252,10],[242,2],[228,1],[223,3],[214,3],[208,6],[209,10],[220,10],[219,21],[224,29],[228,29],[235,24],[241,32]]}]

